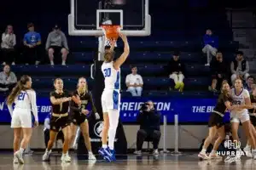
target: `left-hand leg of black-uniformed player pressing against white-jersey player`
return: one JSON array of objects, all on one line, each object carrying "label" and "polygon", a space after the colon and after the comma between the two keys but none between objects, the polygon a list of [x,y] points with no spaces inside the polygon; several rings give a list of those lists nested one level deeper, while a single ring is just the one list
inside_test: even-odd
[{"label": "left-hand leg of black-uniformed player pressing against white-jersey player", "polygon": [[207,148],[211,144],[212,139],[215,138],[216,133],[217,133],[216,126],[209,128],[209,134],[208,134],[207,138],[205,139],[205,142],[201,149],[201,152],[198,154],[198,157],[200,157],[201,159],[209,159],[209,157],[207,156]]}]

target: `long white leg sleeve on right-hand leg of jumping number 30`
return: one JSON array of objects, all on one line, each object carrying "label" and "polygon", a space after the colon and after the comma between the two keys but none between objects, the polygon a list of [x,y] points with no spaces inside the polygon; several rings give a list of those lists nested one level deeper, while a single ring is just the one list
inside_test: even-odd
[{"label": "long white leg sleeve on right-hand leg of jumping number 30", "polygon": [[119,111],[118,110],[109,110],[108,111],[108,119],[109,119],[108,147],[110,150],[113,150],[116,129],[119,125]]}]

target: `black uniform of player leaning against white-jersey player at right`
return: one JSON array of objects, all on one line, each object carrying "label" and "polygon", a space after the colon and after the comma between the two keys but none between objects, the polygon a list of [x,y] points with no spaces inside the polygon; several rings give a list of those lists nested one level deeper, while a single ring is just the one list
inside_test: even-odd
[{"label": "black uniform of player leaning against white-jersey player at right", "polygon": [[224,126],[224,112],[226,111],[227,107],[225,106],[226,101],[232,101],[230,96],[225,94],[218,95],[218,102],[215,108],[212,111],[212,115],[209,119],[209,127],[222,127]]}]

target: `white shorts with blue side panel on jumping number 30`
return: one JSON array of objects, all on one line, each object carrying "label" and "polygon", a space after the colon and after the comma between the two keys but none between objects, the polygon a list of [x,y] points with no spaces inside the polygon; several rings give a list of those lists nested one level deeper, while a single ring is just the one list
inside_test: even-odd
[{"label": "white shorts with blue side panel on jumping number 30", "polygon": [[118,90],[104,90],[102,93],[102,111],[118,110],[120,108],[120,93]]}]

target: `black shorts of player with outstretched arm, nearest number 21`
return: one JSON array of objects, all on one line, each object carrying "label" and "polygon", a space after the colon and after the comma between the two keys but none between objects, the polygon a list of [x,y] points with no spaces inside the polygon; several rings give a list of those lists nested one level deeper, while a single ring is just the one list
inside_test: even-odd
[{"label": "black shorts of player with outstretched arm, nearest number 21", "polygon": [[49,129],[55,132],[59,132],[61,129],[70,125],[69,116],[57,117],[51,116],[49,121]]}]

